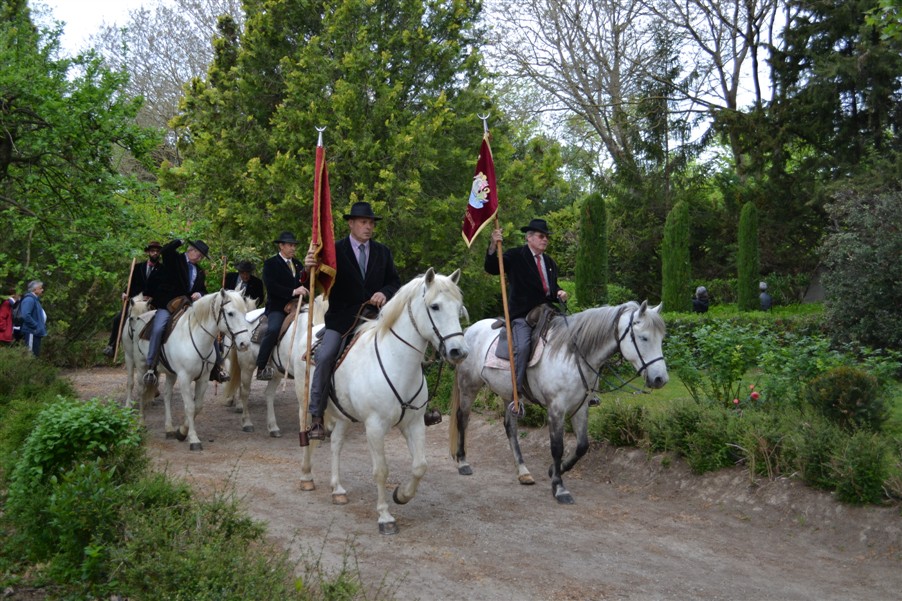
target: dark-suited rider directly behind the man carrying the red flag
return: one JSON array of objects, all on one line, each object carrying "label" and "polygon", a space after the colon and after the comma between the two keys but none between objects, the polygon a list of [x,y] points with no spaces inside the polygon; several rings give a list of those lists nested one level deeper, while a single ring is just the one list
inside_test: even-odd
[{"label": "dark-suited rider directly behind the man carrying the red flag", "polygon": [[269,358],[279,340],[279,330],[285,321],[285,306],[295,297],[300,299],[307,295],[307,288],[302,286],[307,281],[307,274],[300,261],[294,258],[298,241],[291,232],[282,232],[273,240],[279,245],[279,252],[263,262],[263,285],[266,286],[266,334],[260,341],[260,353],[257,355],[257,379],[272,380],[272,367]]}]

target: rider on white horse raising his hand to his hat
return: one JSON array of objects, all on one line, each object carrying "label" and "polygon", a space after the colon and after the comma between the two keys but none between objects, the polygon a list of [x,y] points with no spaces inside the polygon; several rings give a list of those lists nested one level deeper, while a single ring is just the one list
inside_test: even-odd
[{"label": "rider on white horse raising his hand to his hat", "polygon": [[[188,249],[180,253],[179,247],[188,243]],[[170,301],[180,296],[187,296],[192,301],[198,300],[207,293],[206,272],[198,267],[200,260],[207,257],[210,247],[203,240],[175,239],[162,249],[162,265],[153,273],[147,285],[150,296],[157,312],[153,318],[153,329],[150,335],[150,345],[147,349],[147,373],[144,374],[144,384],[152,386],[157,383],[157,362],[159,361],[160,344],[163,340],[163,332],[172,317],[168,306]],[[216,353],[216,363],[210,372],[210,379],[219,382],[228,381],[228,376],[219,366],[219,349]]]}]

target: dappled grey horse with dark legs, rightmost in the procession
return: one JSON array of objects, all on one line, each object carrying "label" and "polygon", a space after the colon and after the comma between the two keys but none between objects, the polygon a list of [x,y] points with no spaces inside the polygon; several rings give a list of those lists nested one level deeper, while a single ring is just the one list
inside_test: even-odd
[{"label": "dappled grey horse with dark legs, rightmost in the procession", "polygon": [[[651,388],[661,388],[667,383],[667,366],[661,352],[665,328],[659,315],[660,308],[658,305],[649,309],[647,303],[629,302],[551,319],[541,359],[527,368],[526,378],[532,400],[548,411],[552,457],[548,476],[551,492],[558,502],[573,503],[562,475],[589,448],[588,401],[598,392],[600,371],[608,358],[618,351]],[[505,402],[513,399],[509,362],[495,364],[494,348],[500,336],[492,327],[495,321],[484,319],[467,328],[464,339],[472,353],[455,370],[449,434],[451,456],[457,459],[457,469],[462,475],[473,473],[467,463],[465,442],[476,394],[483,386],[488,386]],[[568,417],[576,434],[576,449],[563,460],[564,422]],[[520,483],[534,484],[523,462],[517,419],[512,415],[510,405],[504,413],[504,428],[514,452]]]}]

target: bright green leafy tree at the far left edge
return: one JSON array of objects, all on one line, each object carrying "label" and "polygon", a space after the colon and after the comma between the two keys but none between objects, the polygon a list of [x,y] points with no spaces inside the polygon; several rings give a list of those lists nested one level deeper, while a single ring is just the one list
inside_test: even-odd
[{"label": "bright green leafy tree at the far left edge", "polygon": [[135,126],[140,100],[122,94],[123,73],[94,53],[57,58],[59,31],[38,30],[25,2],[0,1],[0,14],[0,281],[22,292],[43,280],[65,344],[94,331],[110,264],[141,248],[143,193],[116,167],[157,139]]}]

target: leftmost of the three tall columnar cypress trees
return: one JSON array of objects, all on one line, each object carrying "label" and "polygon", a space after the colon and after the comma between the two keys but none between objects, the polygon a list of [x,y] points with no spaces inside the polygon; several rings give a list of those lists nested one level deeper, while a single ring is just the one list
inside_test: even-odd
[{"label": "leftmost of the three tall columnar cypress trees", "polygon": [[576,298],[582,307],[608,302],[607,212],[598,192],[589,194],[580,209]]}]

